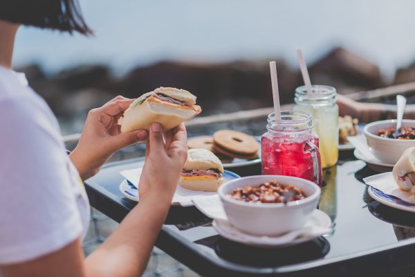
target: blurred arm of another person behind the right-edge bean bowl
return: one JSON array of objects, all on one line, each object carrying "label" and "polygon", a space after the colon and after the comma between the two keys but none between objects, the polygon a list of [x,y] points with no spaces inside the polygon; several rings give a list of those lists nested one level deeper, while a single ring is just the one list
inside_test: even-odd
[{"label": "blurred arm of another person behind the right-edge bean bowl", "polygon": [[[338,94],[336,97],[340,116],[358,118],[362,123],[396,118],[395,105],[357,102],[341,94]],[[415,118],[415,105],[407,105],[405,107],[404,118]]]}]

